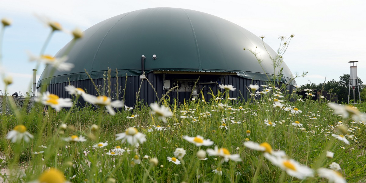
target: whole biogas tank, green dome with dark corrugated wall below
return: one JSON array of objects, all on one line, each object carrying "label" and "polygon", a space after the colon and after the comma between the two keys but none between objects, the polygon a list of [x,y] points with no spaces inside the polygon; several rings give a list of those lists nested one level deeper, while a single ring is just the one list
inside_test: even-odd
[{"label": "whole biogas tank, green dome with dark corrugated wall below", "polygon": [[247,99],[247,86],[264,85],[280,68],[283,71],[278,82],[287,84],[290,91],[296,85],[284,62],[273,69],[269,55],[276,57],[277,53],[261,38],[228,20],[182,8],[149,8],[109,18],[85,30],[82,39],[69,42],[55,57],[65,53],[67,62],[75,67],[48,77],[45,73],[51,73],[52,67],[47,66],[38,81],[38,91],[68,98],[71,96],[64,87],[70,81],[96,95],[87,73],[96,85],[104,85],[108,68],[112,70],[114,93],[117,81],[121,90],[126,85],[122,92],[128,106],[135,104],[137,93],[139,100],[147,103],[166,93],[179,101],[200,98],[201,91],[205,100],[210,100],[208,93],[212,90],[217,94],[219,84],[236,87],[229,92],[230,97]]}]

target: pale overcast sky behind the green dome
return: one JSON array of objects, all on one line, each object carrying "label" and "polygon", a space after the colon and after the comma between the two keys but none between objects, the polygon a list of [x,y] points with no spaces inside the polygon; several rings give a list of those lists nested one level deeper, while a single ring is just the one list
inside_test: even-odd
[{"label": "pale overcast sky behind the green dome", "polygon": [[[14,78],[8,92],[25,93],[31,88],[36,64],[28,61],[26,51],[39,54],[50,31],[34,14],[47,16],[68,30],[86,30],[112,16],[153,7],[186,8],[219,16],[257,36],[264,35],[264,41],[275,50],[279,36],[295,34],[284,61],[293,74],[309,72],[296,79],[298,85],[320,83],[325,77],[326,81],[339,80],[340,75],[349,74],[351,60],[359,61],[358,76],[366,79],[364,0],[8,0],[0,5],[0,18],[13,21],[3,39],[3,69]],[[55,33],[45,53],[55,55],[71,39],[66,33]],[[39,68],[38,77],[43,68]]]}]

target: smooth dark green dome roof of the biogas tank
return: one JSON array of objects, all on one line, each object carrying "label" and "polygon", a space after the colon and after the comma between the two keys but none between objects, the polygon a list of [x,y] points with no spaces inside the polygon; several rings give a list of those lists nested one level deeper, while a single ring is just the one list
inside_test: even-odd
[{"label": "smooth dark green dome roof of the biogas tank", "polygon": [[[68,50],[69,42],[56,57]],[[243,48],[255,49],[263,59],[262,67],[255,56]],[[271,55],[276,55],[268,45]],[[228,20],[194,10],[181,8],[149,8],[128,12],[104,20],[84,31],[67,53],[71,71],[56,71],[49,81],[42,81],[50,73],[46,67],[38,86],[102,78],[107,68],[141,75],[141,56],[145,55],[145,71],[229,71],[256,80],[267,80],[264,74],[274,74],[261,38]],[[153,59],[153,55],[157,59]],[[284,80],[292,77],[285,63]],[[85,69],[85,70],[84,70]],[[276,73],[277,74],[277,73]]]}]

